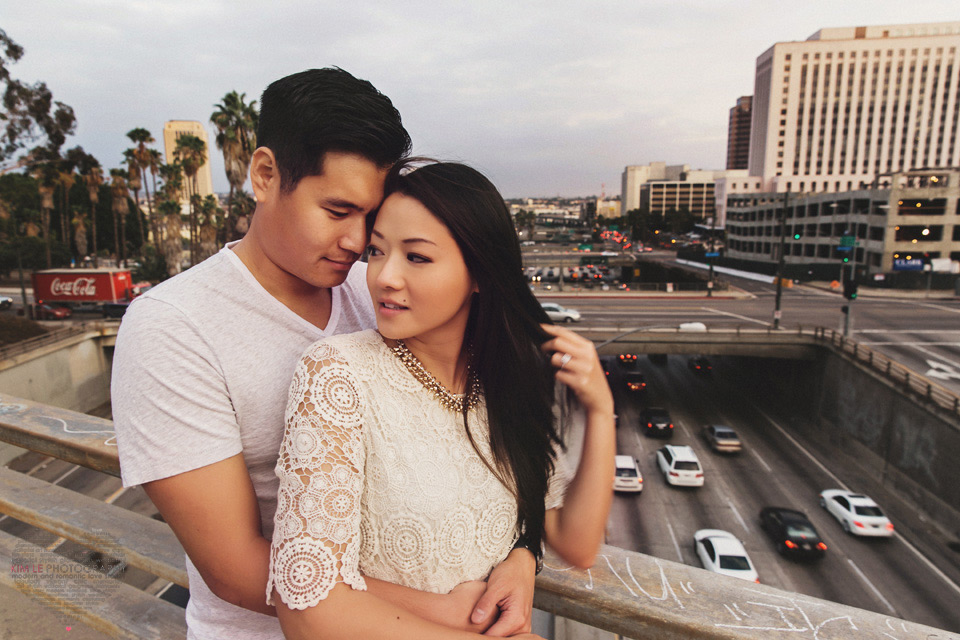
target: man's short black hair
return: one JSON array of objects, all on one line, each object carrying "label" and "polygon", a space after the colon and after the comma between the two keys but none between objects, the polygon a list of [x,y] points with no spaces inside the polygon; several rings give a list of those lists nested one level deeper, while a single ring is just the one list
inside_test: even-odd
[{"label": "man's short black hair", "polygon": [[270,84],[260,98],[257,144],[273,151],[280,188],[293,191],[323,172],[327,151],[356,153],[389,167],[410,153],[410,136],[390,98],[343,69],[309,69]]}]

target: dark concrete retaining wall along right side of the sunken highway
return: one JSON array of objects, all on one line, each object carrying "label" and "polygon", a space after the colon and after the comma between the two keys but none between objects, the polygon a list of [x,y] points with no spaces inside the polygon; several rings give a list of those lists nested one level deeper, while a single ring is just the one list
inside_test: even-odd
[{"label": "dark concrete retaining wall along right side of the sunken highway", "polygon": [[[814,361],[731,358],[757,402],[844,482],[960,531],[960,425],[879,374],[823,352]],[[826,487],[824,487],[826,488]],[[879,495],[878,492],[880,492]],[[891,511],[891,513],[893,513]]]}]

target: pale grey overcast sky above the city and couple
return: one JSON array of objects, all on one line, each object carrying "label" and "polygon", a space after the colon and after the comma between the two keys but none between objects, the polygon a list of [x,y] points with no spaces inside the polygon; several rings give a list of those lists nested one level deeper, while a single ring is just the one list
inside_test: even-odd
[{"label": "pale grey overcast sky above the city and couple", "polygon": [[212,144],[227,92],[336,65],[393,100],[415,153],[468,162],[507,198],[617,195],[625,165],[657,160],[722,169],[729,109],[773,43],[949,20],[947,0],[0,0],[26,50],[13,77],[71,105],[66,146],[106,167],[134,127],[159,140],[199,120]]}]

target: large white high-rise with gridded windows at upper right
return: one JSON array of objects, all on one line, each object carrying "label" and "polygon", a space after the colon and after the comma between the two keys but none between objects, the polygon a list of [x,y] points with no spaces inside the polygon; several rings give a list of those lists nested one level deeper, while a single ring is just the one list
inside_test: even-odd
[{"label": "large white high-rise with gridded windows at upper right", "polygon": [[960,166],[960,22],[821,29],[757,58],[749,171],[837,192]]}]

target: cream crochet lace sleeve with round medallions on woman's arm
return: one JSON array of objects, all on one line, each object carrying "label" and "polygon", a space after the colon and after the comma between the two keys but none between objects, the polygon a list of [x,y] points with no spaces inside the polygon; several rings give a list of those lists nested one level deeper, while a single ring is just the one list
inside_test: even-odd
[{"label": "cream crochet lace sleeve with round medallions on woman's arm", "polygon": [[365,590],[359,569],[364,485],[362,400],[343,356],[319,344],[303,356],[287,400],[267,602],[315,606],[337,582]]}]

